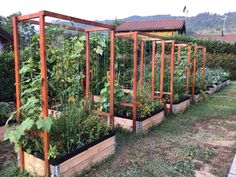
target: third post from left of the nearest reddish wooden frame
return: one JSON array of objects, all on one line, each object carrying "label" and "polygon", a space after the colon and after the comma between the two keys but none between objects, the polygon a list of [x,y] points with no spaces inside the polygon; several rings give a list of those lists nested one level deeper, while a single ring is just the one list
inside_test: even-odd
[{"label": "third post from left of the nearest reddish wooden frame", "polygon": [[89,89],[90,89],[90,61],[89,61],[89,53],[90,53],[90,45],[89,45],[89,32],[85,32],[86,37],[86,52],[85,52],[85,58],[86,58],[86,76],[85,76],[85,98],[86,98],[86,106],[85,109],[88,111],[89,109]]}]

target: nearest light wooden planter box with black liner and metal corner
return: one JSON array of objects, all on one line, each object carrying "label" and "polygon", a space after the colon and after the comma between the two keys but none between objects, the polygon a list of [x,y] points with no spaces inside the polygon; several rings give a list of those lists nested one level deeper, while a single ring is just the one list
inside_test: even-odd
[{"label": "nearest light wooden planter box with black liner and metal corner", "polygon": [[[82,148],[81,148],[82,149]],[[92,165],[112,155],[116,149],[116,138],[114,132],[105,136],[98,142],[93,142],[87,148],[79,150],[79,153],[68,155],[67,159],[60,159],[58,162],[50,162],[51,176],[77,176]],[[72,157],[70,157],[72,156]],[[25,170],[32,175],[45,176],[44,160],[24,152]]]}]

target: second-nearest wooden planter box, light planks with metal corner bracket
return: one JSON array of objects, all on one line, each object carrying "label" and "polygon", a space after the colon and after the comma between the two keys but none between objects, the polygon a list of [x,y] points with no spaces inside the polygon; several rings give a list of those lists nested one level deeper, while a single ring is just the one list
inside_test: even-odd
[{"label": "second-nearest wooden planter box, light planks with metal corner bracket", "polygon": [[[147,131],[149,128],[153,127],[154,125],[160,124],[165,117],[164,111],[161,111],[151,117],[148,117],[144,120],[137,120],[137,129],[136,133]],[[115,125],[119,125],[124,129],[129,131],[133,130],[133,120],[124,118],[124,117],[114,117]]]}]

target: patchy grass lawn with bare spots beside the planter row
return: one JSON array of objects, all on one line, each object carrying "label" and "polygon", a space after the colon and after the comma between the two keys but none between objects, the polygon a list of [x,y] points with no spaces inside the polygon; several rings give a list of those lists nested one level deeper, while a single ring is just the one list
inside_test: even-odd
[{"label": "patchy grass lawn with bare spots beside the planter row", "polygon": [[[235,137],[236,82],[232,82],[145,134],[119,132],[116,154],[81,176],[227,176],[236,152]],[[10,176],[1,163],[0,176]]]}]

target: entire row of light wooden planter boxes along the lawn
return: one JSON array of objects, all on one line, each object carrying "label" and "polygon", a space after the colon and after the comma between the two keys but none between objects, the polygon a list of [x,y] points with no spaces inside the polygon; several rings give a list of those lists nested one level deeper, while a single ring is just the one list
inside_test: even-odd
[{"label": "entire row of light wooden planter boxes along the lawn", "polygon": [[[212,87],[207,87],[206,93],[212,94],[215,91],[221,89],[222,87],[228,85],[229,80],[222,81]],[[201,99],[201,95],[197,94],[194,96],[193,100],[190,97],[186,97],[183,100],[173,104],[173,113],[184,112],[191,102],[198,102]],[[169,104],[167,104],[169,107]],[[50,114],[52,111],[49,111]],[[149,128],[160,124],[165,118],[164,109],[157,110],[150,113],[150,116],[137,119],[137,132],[147,131]],[[5,119],[6,120],[6,119]],[[115,125],[119,125],[124,129],[132,130],[133,121],[129,117],[118,117],[114,118]],[[3,139],[3,134],[5,131],[5,126],[3,123],[0,127],[0,139]],[[53,176],[73,176],[75,174],[81,173],[83,170],[89,169],[95,163],[104,160],[108,156],[115,152],[116,140],[114,131],[99,137],[95,141],[86,144],[85,146],[74,150],[73,152],[66,154],[63,157],[51,159],[49,161],[51,167],[51,174]],[[24,168],[31,174],[44,176],[44,166],[45,162],[42,156],[33,156],[24,152]]]}]

